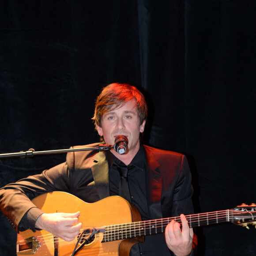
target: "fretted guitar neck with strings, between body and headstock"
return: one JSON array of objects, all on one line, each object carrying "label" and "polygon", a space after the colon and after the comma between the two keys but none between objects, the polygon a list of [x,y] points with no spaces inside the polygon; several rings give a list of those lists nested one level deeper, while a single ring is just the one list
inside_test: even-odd
[{"label": "fretted guitar neck with strings, between body and headstock", "polygon": [[[190,228],[198,226],[207,226],[221,222],[229,222],[230,210],[213,211],[202,214],[186,215],[188,226]],[[141,222],[131,222],[105,226],[104,242],[127,239],[132,237],[141,237],[165,232],[169,222],[174,220],[181,224],[180,217],[161,218]]]}]

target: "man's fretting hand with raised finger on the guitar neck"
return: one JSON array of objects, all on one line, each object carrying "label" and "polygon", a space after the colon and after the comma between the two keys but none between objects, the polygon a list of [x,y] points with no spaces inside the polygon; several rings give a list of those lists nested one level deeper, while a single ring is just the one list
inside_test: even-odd
[{"label": "man's fretting hand with raised finger on the guitar neck", "polygon": [[181,214],[180,223],[172,220],[166,226],[166,244],[176,256],[188,256],[192,251],[193,229],[189,228],[186,217]]}]

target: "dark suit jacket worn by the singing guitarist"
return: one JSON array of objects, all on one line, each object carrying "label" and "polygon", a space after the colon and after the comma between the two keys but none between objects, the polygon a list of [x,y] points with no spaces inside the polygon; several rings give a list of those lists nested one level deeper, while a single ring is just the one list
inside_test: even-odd
[{"label": "dark suit jacket worn by the singing guitarist", "polygon": [[[96,146],[98,143],[74,148]],[[150,217],[154,219],[179,216],[181,213],[192,214],[193,190],[186,157],[171,151],[144,147]],[[1,211],[17,232],[21,219],[28,212],[20,230],[34,230],[35,221],[42,212],[30,200],[42,193],[69,192],[88,203],[110,196],[109,166],[105,154],[96,151],[70,152],[65,163],[8,184],[0,190]]]}]

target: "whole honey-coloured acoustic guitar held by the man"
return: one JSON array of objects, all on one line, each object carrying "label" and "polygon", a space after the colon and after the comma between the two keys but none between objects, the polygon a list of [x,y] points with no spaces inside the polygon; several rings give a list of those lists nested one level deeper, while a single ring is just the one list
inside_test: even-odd
[{"label": "whole honey-coloured acoustic guitar held by the man", "polygon": [[[144,236],[165,232],[171,220],[181,223],[180,217],[141,221],[136,207],[120,196],[85,203],[66,192],[50,192],[36,197],[32,202],[46,213],[80,211],[79,222],[86,226],[70,242],[45,230],[20,232],[17,237],[17,255],[128,256],[132,245],[144,241]],[[248,224],[256,225],[256,204],[186,215],[186,218],[190,227],[233,222],[248,228]]]}]

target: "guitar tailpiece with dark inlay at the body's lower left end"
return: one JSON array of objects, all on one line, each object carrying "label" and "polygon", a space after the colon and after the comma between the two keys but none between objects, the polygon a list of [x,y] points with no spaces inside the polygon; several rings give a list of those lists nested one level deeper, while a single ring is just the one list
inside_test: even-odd
[{"label": "guitar tailpiece with dark inlay at the body's lower left end", "polygon": [[38,248],[41,247],[41,243],[35,237],[29,237],[21,241],[17,241],[17,255],[32,255],[35,254]]}]

